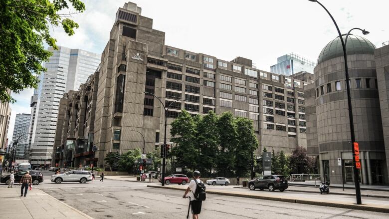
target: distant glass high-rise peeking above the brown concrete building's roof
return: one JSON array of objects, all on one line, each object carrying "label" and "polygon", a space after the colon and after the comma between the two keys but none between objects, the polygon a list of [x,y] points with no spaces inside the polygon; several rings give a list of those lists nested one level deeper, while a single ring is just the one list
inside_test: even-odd
[{"label": "distant glass high-rise peeking above the brown concrete building's roof", "polygon": [[290,76],[297,72],[307,71],[313,73],[315,62],[310,61],[295,53],[290,53],[277,58],[277,64],[270,66],[270,72]]}]

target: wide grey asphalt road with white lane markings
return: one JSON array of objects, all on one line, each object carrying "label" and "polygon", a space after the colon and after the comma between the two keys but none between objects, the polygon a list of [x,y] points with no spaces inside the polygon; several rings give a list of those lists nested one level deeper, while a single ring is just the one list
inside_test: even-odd
[{"label": "wide grey asphalt road with white lane markings", "polygon": [[[147,188],[147,183],[104,180],[86,184],[50,182],[52,172],[43,172],[44,182],[36,186],[54,198],[82,211],[95,219],[106,218],[186,218],[188,199],[183,199],[183,191]],[[186,186],[183,186],[186,187]],[[242,190],[232,186],[210,186],[222,190]],[[266,191],[251,191],[253,193],[269,193]],[[275,192],[277,193],[277,192]],[[278,192],[281,193],[281,192]],[[274,193],[273,193],[274,194]],[[335,196],[283,192],[290,196],[312,196],[322,199],[355,199],[353,196]],[[363,197],[363,201],[368,197]],[[375,199],[378,202],[389,202],[388,199]],[[207,195],[203,202],[201,218],[207,219],[388,219],[389,214],[365,212],[358,210],[339,209],[285,203],[258,199],[238,198],[220,195]]]}]

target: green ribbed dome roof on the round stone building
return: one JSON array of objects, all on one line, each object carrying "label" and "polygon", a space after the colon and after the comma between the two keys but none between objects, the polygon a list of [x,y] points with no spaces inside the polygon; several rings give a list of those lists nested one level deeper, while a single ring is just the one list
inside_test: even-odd
[{"label": "green ribbed dome roof on the round stone building", "polygon": [[[346,39],[346,35],[342,35],[343,40]],[[370,42],[368,39],[362,36],[349,35],[347,39],[346,51],[347,55],[352,54],[374,54],[374,50],[376,46]],[[317,59],[317,65],[322,63],[323,61],[327,61],[329,59],[343,56],[343,48],[342,41],[339,36],[334,40],[329,42],[326,46],[324,46],[323,50],[320,52],[319,58]]]}]

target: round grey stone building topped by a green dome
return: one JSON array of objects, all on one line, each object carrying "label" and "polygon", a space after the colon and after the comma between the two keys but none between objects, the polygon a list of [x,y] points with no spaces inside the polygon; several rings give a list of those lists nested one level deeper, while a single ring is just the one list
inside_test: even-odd
[{"label": "round grey stone building topped by a green dome", "polygon": [[[343,36],[345,37],[345,36]],[[388,115],[385,64],[388,48],[378,49],[368,39],[350,35],[347,40],[351,99],[356,141],[360,149],[363,184],[388,184],[383,122]],[[377,63],[377,60],[380,60]],[[377,69],[381,69],[378,86]],[[354,183],[346,76],[340,38],[329,42],[314,69],[314,83],[305,86],[307,151],[319,156],[320,172],[331,183]],[[379,95],[380,94],[380,95]],[[381,108],[380,108],[381,101]],[[383,112],[383,119],[381,117]],[[338,162],[339,160],[339,162]]]}]

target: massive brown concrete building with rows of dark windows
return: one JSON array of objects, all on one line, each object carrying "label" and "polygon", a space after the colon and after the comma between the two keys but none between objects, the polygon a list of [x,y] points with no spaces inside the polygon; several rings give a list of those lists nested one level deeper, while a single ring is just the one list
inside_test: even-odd
[{"label": "massive brown concrete building with rows of dark windows", "polygon": [[[165,45],[165,33],[153,29],[152,24],[153,20],[142,16],[141,8],[132,2],[125,3],[116,13],[109,42],[102,53],[94,136],[90,138],[98,147],[95,154],[98,167],[103,167],[109,152],[124,153],[143,147],[141,135],[133,130],[145,136],[146,153],[163,140],[164,110],[157,99],[145,95],[144,91],[155,94],[164,104],[182,99],[167,112],[168,140],[170,123],[182,109],[192,115],[214,110],[217,114],[230,111],[236,116],[252,119],[260,140],[257,153],[263,147],[289,153],[296,146],[306,146],[303,81],[253,68],[252,61],[247,58],[225,61]],[[74,107],[75,95],[67,94],[61,99],[60,109],[62,104],[67,105],[66,109],[63,107],[67,114],[61,114],[65,117],[63,120],[59,120],[58,115],[57,124],[68,126],[68,130],[63,128],[62,133],[75,132],[74,127],[81,126],[80,121],[84,121],[81,119],[77,123],[78,117],[72,110],[68,111],[70,104]],[[62,135],[61,143],[56,141],[55,147],[63,145],[68,151],[65,154],[70,154],[73,143],[65,139],[69,143],[66,149],[63,138],[73,138],[75,145],[80,145],[82,141],[77,135],[86,139],[86,133],[90,130],[73,137]],[[56,136],[60,137],[58,129]],[[79,150],[72,152],[72,165],[91,163],[92,160],[88,163],[82,157],[90,156],[84,151],[90,151],[90,148],[84,146],[78,161]]]}]

